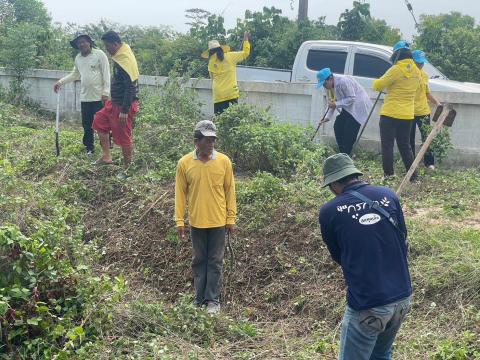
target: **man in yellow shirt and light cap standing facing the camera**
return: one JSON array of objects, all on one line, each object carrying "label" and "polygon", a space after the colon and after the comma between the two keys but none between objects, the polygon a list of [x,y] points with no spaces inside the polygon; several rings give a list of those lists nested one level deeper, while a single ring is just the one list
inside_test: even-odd
[{"label": "man in yellow shirt and light cap standing facing the camera", "polygon": [[188,204],[195,301],[212,314],[220,311],[225,233],[235,230],[237,214],[232,162],[215,151],[216,130],[210,120],[195,126],[195,150],[180,159],[175,178],[175,221],[182,240]]}]

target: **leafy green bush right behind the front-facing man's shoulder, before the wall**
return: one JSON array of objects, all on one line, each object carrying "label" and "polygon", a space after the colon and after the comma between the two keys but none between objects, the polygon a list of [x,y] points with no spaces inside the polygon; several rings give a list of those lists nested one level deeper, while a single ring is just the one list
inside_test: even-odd
[{"label": "leafy green bush right behind the front-facing man's shoulder, before the wall", "polygon": [[276,123],[266,111],[251,105],[232,106],[215,122],[218,147],[242,171],[292,175],[306,152],[316,146],[304,127]]}]

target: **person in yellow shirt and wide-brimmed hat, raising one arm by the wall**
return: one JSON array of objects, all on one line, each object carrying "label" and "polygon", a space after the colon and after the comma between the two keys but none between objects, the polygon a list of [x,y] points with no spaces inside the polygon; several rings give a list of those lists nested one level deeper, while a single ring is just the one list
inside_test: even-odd
[{"label": "person in yellow shirt and wide-brimmed hat, raising one arm by the wall", "polygon": [[245,31],[242,51],[230,51],[229,46],[220,46],[217,40],[212,40],[208,42],[208,50],[202,53],[202,57],[208,59],[215,114],[220,114],[231,104],[238,103],[240,91],[237,84],[237,63],[250,55],[248,39],[249,34]]}]

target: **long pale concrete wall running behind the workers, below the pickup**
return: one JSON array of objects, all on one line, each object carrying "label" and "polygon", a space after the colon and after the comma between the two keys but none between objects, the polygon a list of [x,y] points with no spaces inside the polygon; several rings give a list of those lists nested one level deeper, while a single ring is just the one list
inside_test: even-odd
[{"label": "long pale concrete wall running behind the workers, below the pickup", "polygon": [[[52,70],[35,70],[27,80],[29,96],[39,102],[42,107],[55,111],[56,96],[53,85],[57,79],[67,72]],[[8,86],[12,76],[8,71],[0,69],[0,84]],[[141,86],[161,86],[164,77],[141,76]],[[213,113],[211,100],[210,80],[192,79],[186,86],[195,88],[203,111],[206,115]],[[279,121],[299,125],[315,126],[324,113],[325,98],[323,92],[318,91],[311,84],[270,83],[260,81],[239,82],[242,92],[241,102],[258,105],[274,115]],[[80,84],[68,84],[61,90],[60,108],[63,118],[78,118],[80,111],[79,101]],[[367,89],[372,101],[376,93]],[[451,138],[454,149],[447,159],[449,164],[477,166],[480,165],[480,94],[474,93],[435,93],[440,101],[448,102],[457,110],[457,118],[451,128]],[[377,105],[370,122],[365,129],[360,145],[380,152],[378,111],[381,101]],[[417,136],[419,139],[420,137]],[[319,131],[319,139],[331,142],[333,139],[333,121],[325,124]]]}]

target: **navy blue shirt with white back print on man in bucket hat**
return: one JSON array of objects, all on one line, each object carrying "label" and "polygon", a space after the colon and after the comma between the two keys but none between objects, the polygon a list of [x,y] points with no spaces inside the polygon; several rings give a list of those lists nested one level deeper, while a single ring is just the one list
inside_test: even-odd
[{"label": "navy blue shirt with white back print on man in bucket hat", "polygon": [[354,183],[322,206],[322,237],[332,259],[342,267],[348,305],[365,310],[411,295],[405,240],[383,215],[345,193],[350,189],[378,201],[407,234],[398,197],[383,186]]}]

